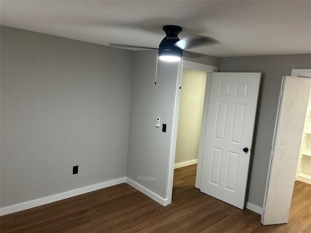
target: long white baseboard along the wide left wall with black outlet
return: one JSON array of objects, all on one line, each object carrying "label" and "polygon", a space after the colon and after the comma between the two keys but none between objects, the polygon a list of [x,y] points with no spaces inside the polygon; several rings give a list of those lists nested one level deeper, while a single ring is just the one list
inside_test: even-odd
[{"label": "long white baseboard along the wide left wall with black outlet", "polygon": [[103,182],[103,183],[93,184],[93,185],[86,186],[83,188],[70,190],[68,192],[55,194],[55,195],[45,197],[45,198],[40,198],[40,199],[36,199],[36,200],[31,200],[31,201],[19,203],[16,205],[3,207],[3,208],[0,208],[0,216],[12,214],[12,213],[22,211],[22,210],[27,210],[27,209],[34,208],[34,207],[37,207],[40,205],[52,203],[54,201],[64,200],[67,198],[71,198],[71,197],[78,196],[81,194],[93,192],[93,191],[96,191],[96,190],[99,190],[102,188],[107,188],[107,187],[117,185],[120,183],[125,183],[125,177],[115,179],[115,180],[111,180],[111,181],[107,181],[107,182]]}]

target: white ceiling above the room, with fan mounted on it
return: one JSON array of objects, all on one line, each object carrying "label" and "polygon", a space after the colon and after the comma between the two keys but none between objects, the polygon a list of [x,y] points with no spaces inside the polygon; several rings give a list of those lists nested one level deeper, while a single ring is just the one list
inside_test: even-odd
[{"label": "white ceiling above the room, with fan mounted on it", "polygon": [[216,57],[311,53],[311,0],[1,0],[4,26],[108,45],[158,47],[164,25],[219,44],[190,51]]}]

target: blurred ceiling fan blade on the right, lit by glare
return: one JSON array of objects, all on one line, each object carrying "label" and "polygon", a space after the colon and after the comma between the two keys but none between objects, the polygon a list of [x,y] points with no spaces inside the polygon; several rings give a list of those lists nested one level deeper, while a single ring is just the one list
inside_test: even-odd
[{"label": "blurred ceiling fan blade on the right, lit by glare", "polygon": [[201,45],[212,45],[219,43],[218,40],[215,40],[211,37],[201,36],[201,35],[190,35],[180,39],[178,42],[174,44],[174,46],[185,50],[190,49],[196,46]]}]

